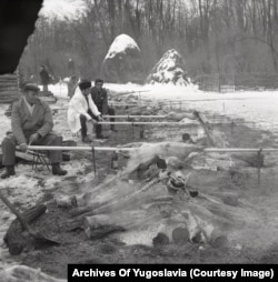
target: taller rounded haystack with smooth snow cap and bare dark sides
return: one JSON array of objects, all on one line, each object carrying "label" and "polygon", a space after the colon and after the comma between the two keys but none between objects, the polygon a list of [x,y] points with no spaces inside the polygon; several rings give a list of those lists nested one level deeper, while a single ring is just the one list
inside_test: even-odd
[{"label": "taller rounded haystack with smooth snow cap and bare dark sides", "polygon": [[140,66],[140,48],[127,36],[118,36],[110,46],[102,63],[106,81],[127,83],[138,81]]}]

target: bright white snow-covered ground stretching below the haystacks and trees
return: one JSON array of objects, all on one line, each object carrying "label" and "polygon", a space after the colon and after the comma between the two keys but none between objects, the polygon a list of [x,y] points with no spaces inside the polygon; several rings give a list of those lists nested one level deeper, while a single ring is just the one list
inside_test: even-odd
[{"label": "bright white snow-covered ground stretching below the haystacks and trees", "polygon": [[[151,100],[153,104],[163,102],[170,105],[170,101],[177,101],[179,109],[209,111],[216,114],[225,114],[232,119],[244,119],[254,122],[256,127],[270,130],[278,137],[278,91],[237,91],[230,93],[203,92],[193,84],[189,87],[133,83],[112,84],[106,83],[108,90],[116,92],[131,92],[141,99]],[[67,85],[64,83],[50,85],[54,95],[67,99]],[[175,107],[175,103],[171,103]],[[1,114],[1,113],[0,113]]]}]

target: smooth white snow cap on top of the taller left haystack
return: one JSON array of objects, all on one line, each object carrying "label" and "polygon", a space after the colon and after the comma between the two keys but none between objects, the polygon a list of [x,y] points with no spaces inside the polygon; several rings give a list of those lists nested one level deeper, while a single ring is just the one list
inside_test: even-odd
[{"label": "smooth white snow cap on top of the taller left haystack", "polygon": [[120,34],[113,40],[105,60],[125,54],[137,54],[138,52],[140,52],[140,48],[136,41],[127,34]]}]

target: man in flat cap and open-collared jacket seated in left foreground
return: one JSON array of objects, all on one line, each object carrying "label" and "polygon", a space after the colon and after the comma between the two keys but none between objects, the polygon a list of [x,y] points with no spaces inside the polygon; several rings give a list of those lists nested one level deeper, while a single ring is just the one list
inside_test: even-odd
[{"label": "man in flat cap and open-collared jacket seated in left foreground", "polygon": [[[26,84],[22,97],[12,105],[12,132],[7,133],[2,141],[2,164],[6,167],[6,172],[1,175],[2,179],[14,175],[17,144],[21,151],[27,151],[28,144],[62,145],[62,138],[51,133],[53,128],[51,110],[44,101],[38,98],[39,90],[36,84]],[[67,174],[67,171],[60,167],[61,151],[50,151],[49,159],[52,174]]]}]

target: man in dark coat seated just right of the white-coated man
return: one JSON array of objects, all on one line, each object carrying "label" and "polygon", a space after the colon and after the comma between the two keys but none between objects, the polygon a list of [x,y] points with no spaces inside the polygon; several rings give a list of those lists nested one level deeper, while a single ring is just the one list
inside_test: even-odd
[{"label": "man in dark coat seated just right of the white-coated man", "polygon": [[[108,107],[107,91],[103,88],[102,79],[96,79],[95,87],[91,89],[91,99],[97,105],[99,112],[101,112],[101,114],[115,115],[115,109]],[[93,115],[92,118],[96,119],[96,117]],[[115,119],[111,118],[110,121],[115,121]],[[117,130],[115,129],[115,124],[110,125],[110,130],[117,132]],[[101,132],[102,132],[101,124],[97,124],[96,125],[97,138],[106,139],[107,137],[103,137]]]}]

